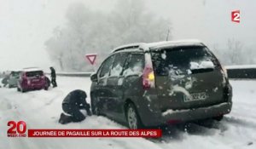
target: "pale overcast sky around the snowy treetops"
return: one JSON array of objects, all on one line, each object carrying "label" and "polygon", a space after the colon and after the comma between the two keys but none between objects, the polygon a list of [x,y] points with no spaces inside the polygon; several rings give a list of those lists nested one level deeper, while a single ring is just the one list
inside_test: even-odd
[{"label": "pale overcast sky around the snowy treetops", "polygon": [[[117,0],[0,0],[0,71],[27,66],[51,66],[44,42],[56,26],[65,26],[70,3],[108,12]],[[224,46],[228,38],[255,47],[254,0],[145,0],[146,8],[172,21],[174,39],[198,38]],[[230,21],[241,10],[241,23]],[[85,63],[85,61],[84,61]]]}]

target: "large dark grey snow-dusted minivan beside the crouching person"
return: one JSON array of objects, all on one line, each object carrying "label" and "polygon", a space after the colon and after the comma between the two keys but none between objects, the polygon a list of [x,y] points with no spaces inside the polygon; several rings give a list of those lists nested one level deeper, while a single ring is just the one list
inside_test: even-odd
[{"label": "large dark grey snow-dusted minivan beside the crouching person", "polygon": [[227,73],[200,41],[119,47],[90,79],[92,112],[131,129],[220,120],[232,107]]}]

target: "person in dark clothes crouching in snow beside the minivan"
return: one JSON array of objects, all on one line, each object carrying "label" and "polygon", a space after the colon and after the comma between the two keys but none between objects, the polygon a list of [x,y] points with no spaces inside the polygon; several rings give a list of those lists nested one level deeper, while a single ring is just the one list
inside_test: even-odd
[{"label": "person in dark clothes crouching in snow beside the minivan", "polygon": [[87,95],[83,90],[77,89],[70,92],[62,101],[62,109],[69,115],[61,113],[59,123],[81,122],[85,116],[80,110],[85,109],[91,116],[90,105],[86,102]]}]

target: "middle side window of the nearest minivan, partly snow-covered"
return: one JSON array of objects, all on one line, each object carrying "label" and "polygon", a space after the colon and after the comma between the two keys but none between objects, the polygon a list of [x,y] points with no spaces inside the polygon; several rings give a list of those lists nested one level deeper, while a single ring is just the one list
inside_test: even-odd
[{"label": "middle side window of the nearest minivan, partly snow-covered", "polygon": [[127,53],[120,53],[115,55],[113,66],[110,71],[110,76],[116,77],[121,74],[125,65],[125,60],[127,58],[127,55],[128,55]]}]

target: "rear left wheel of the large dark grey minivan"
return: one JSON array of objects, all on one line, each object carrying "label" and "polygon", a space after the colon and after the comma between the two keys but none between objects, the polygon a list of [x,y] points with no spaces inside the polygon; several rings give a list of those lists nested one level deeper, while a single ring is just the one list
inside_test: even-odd
[{"label": "rear left wheel of the large dark grey minivan", "polygon": [[126,108],[126,119],[127,125],[130,129],[143,128],[143,123],[141,122],[140,117],[137,114],[137,109],[132,103],[129,103],[129,105]]}]

